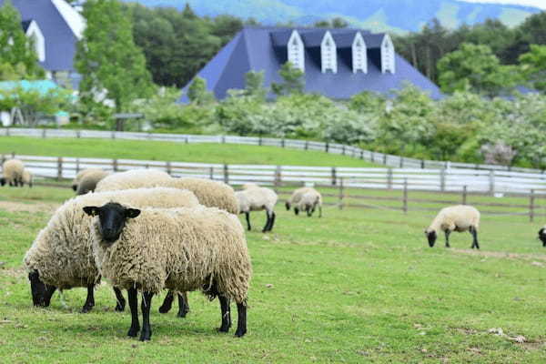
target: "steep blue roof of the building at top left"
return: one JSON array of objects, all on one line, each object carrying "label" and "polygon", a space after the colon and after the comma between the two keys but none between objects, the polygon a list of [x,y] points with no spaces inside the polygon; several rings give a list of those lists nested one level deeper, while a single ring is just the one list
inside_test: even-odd
[{"label": "steep blue roof of the building at top left", "polygon": [[12,4],[21,13],[23,26],[35,20],[44,35],[45,61],[40,66],[48,71],[74,71],[77,38],[52,0],[12,0]]}]

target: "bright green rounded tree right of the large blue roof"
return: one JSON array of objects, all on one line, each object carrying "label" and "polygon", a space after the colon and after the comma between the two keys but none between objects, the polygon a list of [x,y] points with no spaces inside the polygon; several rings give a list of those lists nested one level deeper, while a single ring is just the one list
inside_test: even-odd
[{"label": "bright green rounded tree right of the large blue roof", "polygon": [[438,62],[442,91],[452,93],[472,90],[486,96],[498,96],[520,81],[514,66],[502,66],[487,45],[464,43],[459,50]]}]

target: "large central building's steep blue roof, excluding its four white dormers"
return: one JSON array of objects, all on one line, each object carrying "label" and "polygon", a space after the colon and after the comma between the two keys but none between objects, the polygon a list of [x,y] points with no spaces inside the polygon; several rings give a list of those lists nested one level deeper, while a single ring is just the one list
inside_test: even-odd
[{"label": "large central building's steep blue roof, excluding its four white dormers", "polygon": [[[389,95],[392,89],[401,88],[405,82],[429,92],[433,98],[441,98],[440,88],[423,76],[403,57],[396,55],[396,72],[381,73],[379,60],[374,52],[385,34],[372,35],[360,31],[369,52],[368,73],[353,73],[350,55],[338,51],[338,73],[323,74],[317,52],[322,36],[329,30],[338,48],[349,48],[358,29],[309,29],[296,28],[305,44],[305,92],[318,93],[332,99],[348,99],[363,91],[378,92]],[[248,71],[263,71],[265,86],[272,82],[282,82],[278,75],[280,67],[287,62],[286,45],[294,28],[246,27],[238,33],[220,52],[205,66],[197,76],[207,80],[207,89],[217,99],[227,96],[230,88],[244,88],[245,74]],[[339,42],[339,44],[338,44]],[[191,82],[190,82],[191,84]],[[183,88],[179,100],[187,103],[188,84]],[[270,95],[270,97],[273,97]]]}]

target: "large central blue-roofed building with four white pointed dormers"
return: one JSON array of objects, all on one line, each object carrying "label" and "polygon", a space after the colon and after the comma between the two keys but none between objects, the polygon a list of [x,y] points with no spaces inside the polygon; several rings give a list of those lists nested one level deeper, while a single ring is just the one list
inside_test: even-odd
[{"label": "large central blue-roofed building with four white pointed dormers", "polygon": [[[223,99],[228,89],[245,88],[249,71],[262,71],[266,87],[281,83],[278,71],[288,61],[304,72],[306,93],[336,100],[363,91],[389,96],[410,83],[442,97],[438,86],[395,52],[388,34],[359,29],[245,27],[197,76]],[[188,102],[189,85],[179,102]]]}]

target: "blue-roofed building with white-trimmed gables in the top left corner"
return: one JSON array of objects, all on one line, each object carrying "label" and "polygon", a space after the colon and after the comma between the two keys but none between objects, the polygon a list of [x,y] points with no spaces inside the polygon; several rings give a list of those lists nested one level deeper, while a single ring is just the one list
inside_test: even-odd
[{"label": "blue-roofed building with white-trimmed gables in the top left corner", "polygon": [[[47,78],[77,88],[80,76],[74,58],[86,21],[65,0],[11,0],[21,14],[21,26],[35,40],[35,52]],[[4,0],[0,0],[4,5]]]}]

